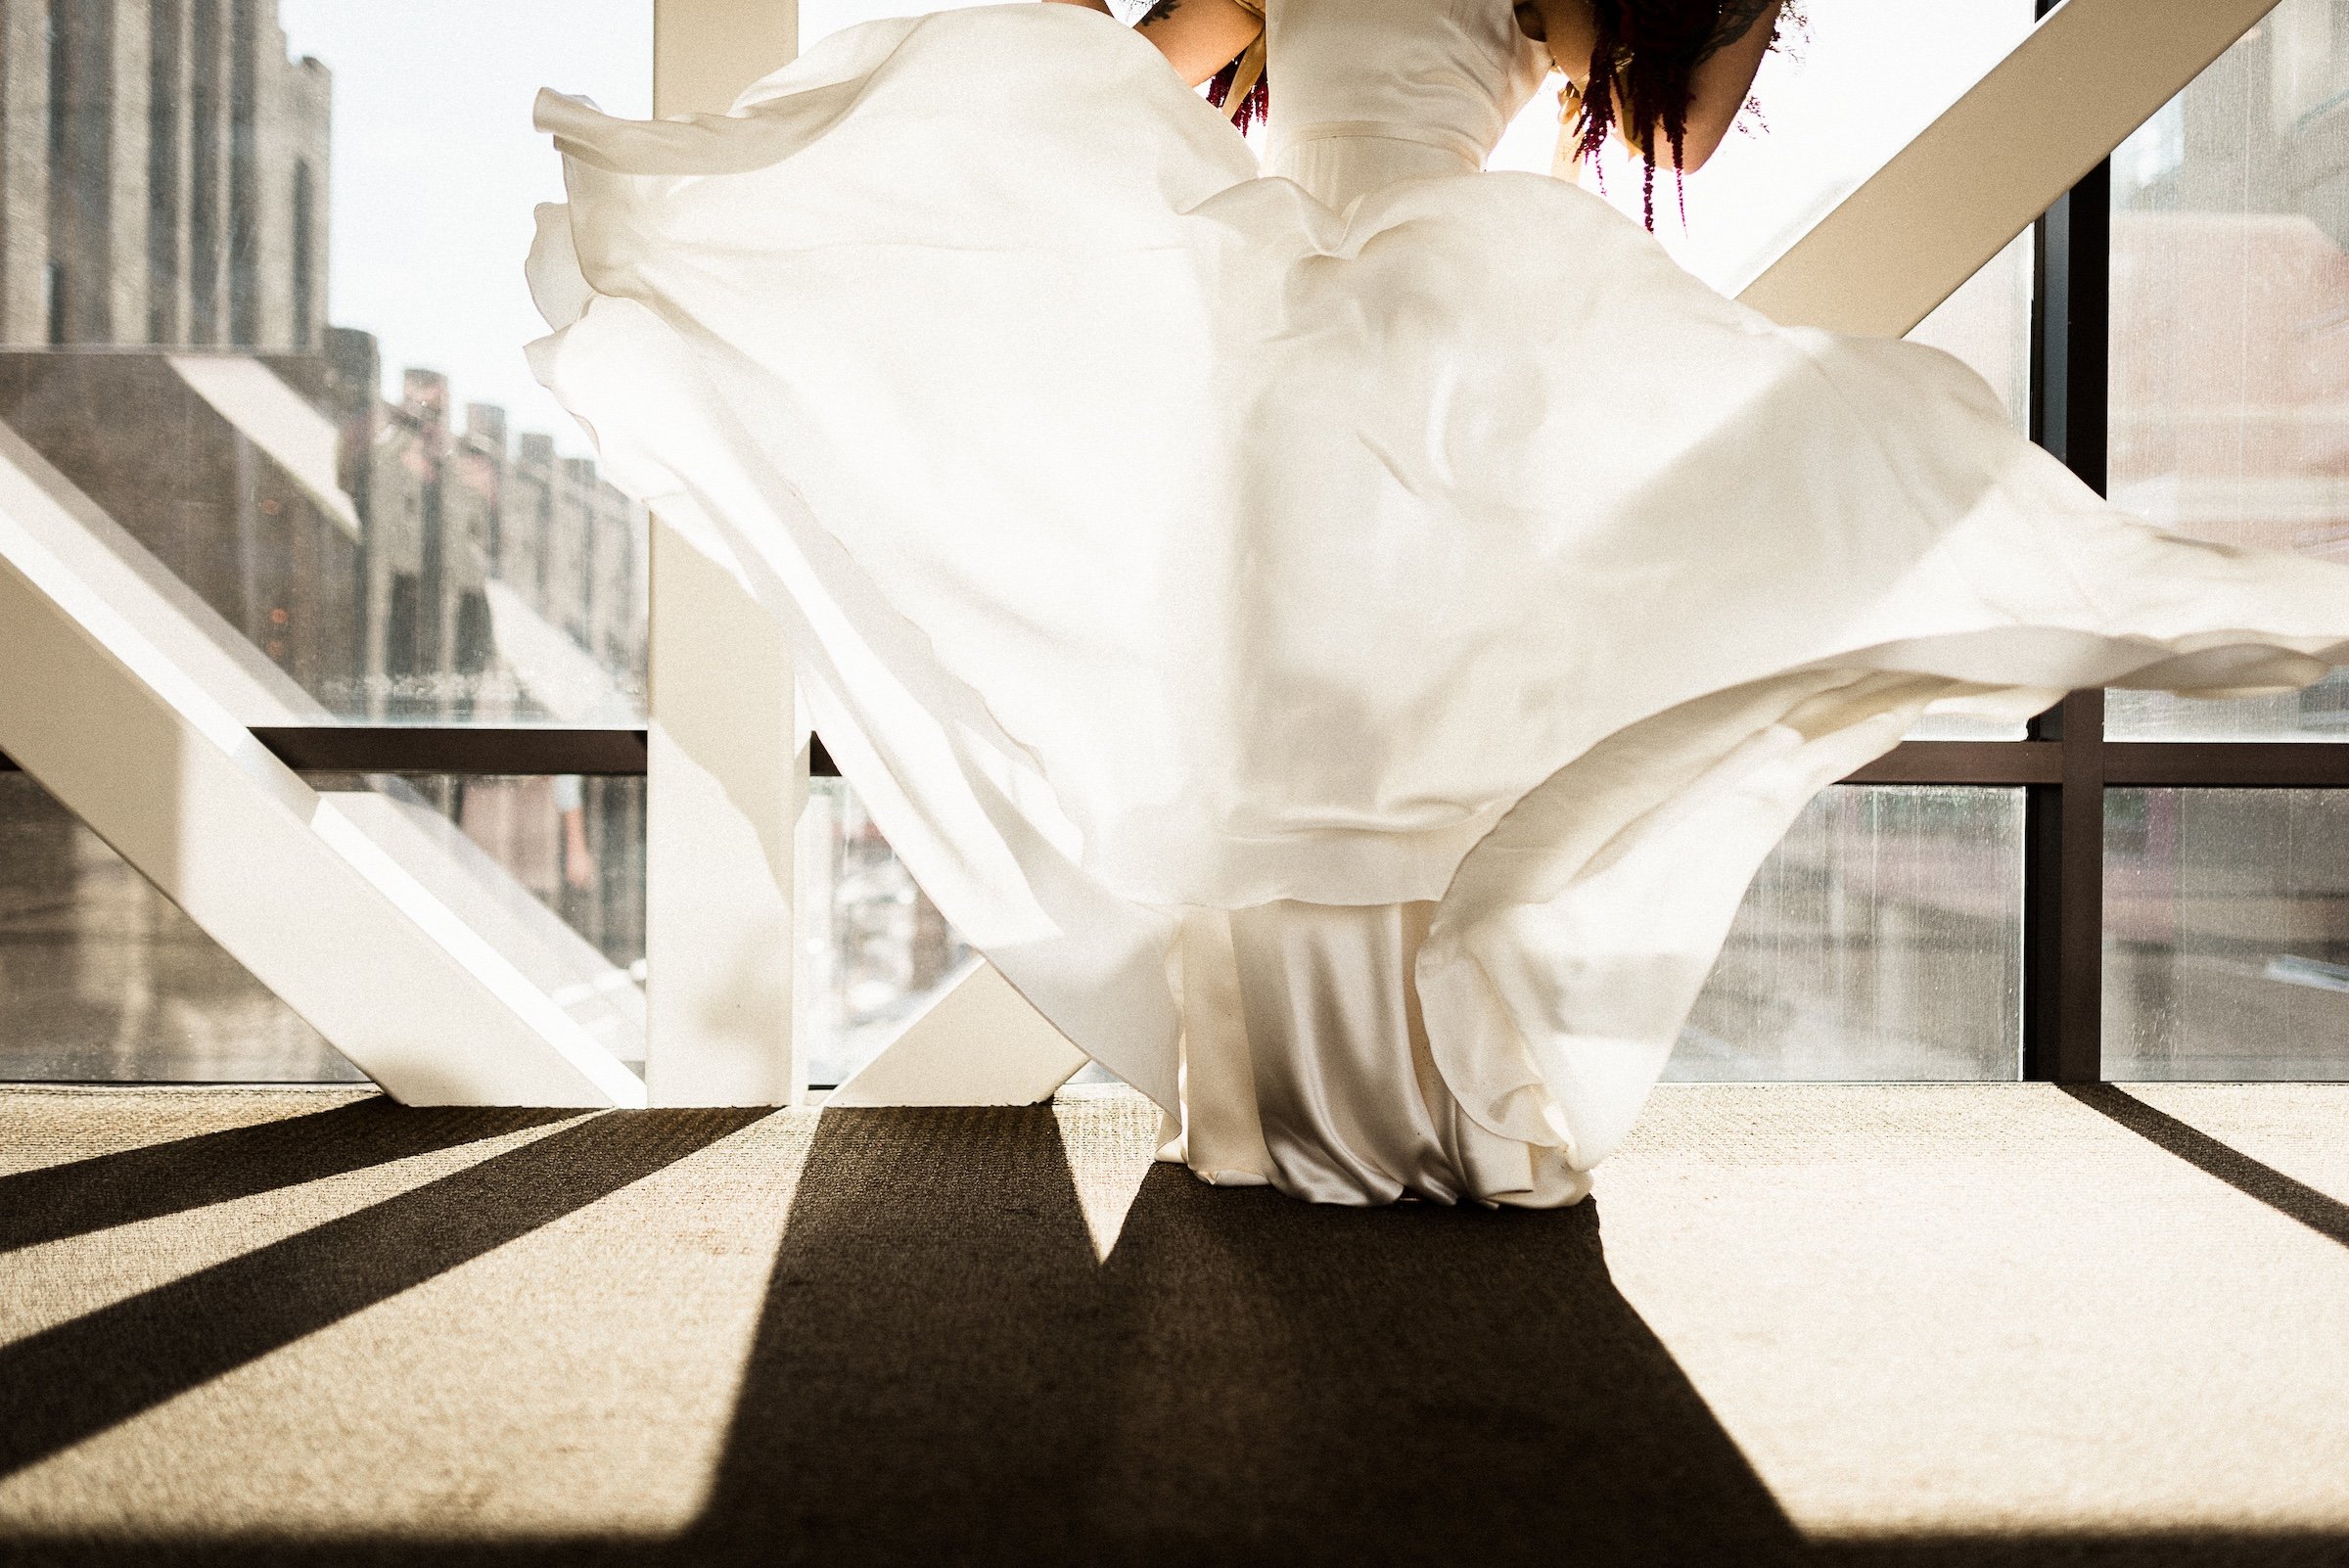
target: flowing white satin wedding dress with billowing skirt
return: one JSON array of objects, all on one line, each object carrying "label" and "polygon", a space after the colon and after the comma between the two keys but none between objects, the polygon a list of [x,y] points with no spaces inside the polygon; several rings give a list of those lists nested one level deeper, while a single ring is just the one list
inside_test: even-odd
[{"label": "flowing white satin wedding dress with billowing skirt", "polygon": [[2163,535],[1957,359],[1480,174],[1543,75],[1510,0],[1268,28],[1264,169],[1069,5],[538,108],[538,376],[1167,1157],[1574,1202],[1764,854],[1929,702],[2349,662],[2349,570]]}]

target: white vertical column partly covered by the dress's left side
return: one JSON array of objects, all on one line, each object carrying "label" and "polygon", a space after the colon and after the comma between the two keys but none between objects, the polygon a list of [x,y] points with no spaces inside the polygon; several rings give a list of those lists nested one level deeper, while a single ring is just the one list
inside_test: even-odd
[{"label": "white vertical column partly covered by the dress's left side", "polygon": [[[796,0],[655,0],[653,113],[726,113],[789,63]],[[792,655],[740,577],[653,519],[646,1087],[789,1106],[792,840],[808,798]]]}]

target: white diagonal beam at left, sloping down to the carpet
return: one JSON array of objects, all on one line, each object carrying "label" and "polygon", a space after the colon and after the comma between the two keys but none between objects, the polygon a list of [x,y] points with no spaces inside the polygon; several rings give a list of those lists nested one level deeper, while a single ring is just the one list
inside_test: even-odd
[{"label": "white diagonal beam at left, sloping down to the carpet", "polygon": [[179,615],[120,610],[106,528],[0,427],[0,751],[395,1099],[641,1106],[611,1052],[181,657],[268,695],[258,676]]}]

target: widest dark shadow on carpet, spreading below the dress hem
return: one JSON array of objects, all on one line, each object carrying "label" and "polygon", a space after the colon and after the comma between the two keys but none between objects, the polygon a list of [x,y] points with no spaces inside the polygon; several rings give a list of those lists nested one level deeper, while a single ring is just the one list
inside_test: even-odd
[{"label": "widest dark shadow on carpet, spreading below the dress hem", "polygon": [[1052,1113],[822,1120],[702,1561],[1788,1561],[1590,1204],[1142,1185],[1097,1265]]}]

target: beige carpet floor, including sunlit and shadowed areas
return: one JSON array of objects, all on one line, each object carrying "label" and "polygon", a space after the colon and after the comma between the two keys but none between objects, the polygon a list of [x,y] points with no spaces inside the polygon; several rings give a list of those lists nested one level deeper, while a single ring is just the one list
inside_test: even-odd
[{"label": "beige carpet floor, including sunlit and shadowed areas", "polygon": [[1153,1127],[0,1091],[0,1561],[2349,1563],[2349,1087],[1675,1087],[1564,1214]]}]

